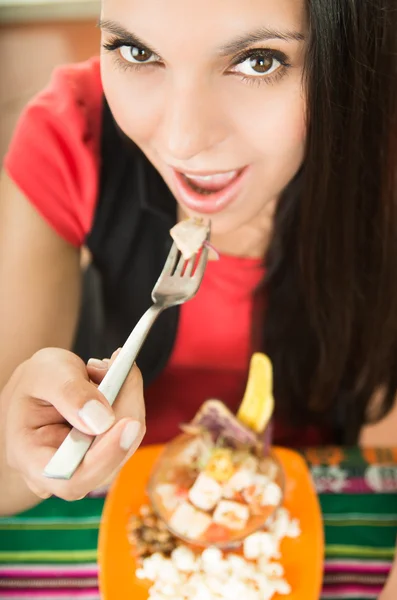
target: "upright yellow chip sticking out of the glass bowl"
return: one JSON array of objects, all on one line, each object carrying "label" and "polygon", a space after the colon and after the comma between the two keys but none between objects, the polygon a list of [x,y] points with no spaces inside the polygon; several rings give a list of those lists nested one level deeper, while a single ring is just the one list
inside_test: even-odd
[{"label": "upright yellow chip sticking out of the glass bowl", "polygon": [[256,433],[262,433],[273,411],[272,363],[265,354],[257,352],[251,358],[248,383],[237,418]]}]

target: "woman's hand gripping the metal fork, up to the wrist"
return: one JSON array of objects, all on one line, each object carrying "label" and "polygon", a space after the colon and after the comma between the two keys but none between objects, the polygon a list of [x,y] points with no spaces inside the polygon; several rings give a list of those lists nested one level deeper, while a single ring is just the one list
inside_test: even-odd
[{"label": "woman's hand gripping the metal fork, up to the wrist", "polygon": [[[3,389],[8,463],[40,498],[84,497],[109,481],[141,443],[145,408],[140,372],[134,366],[112,410],[97,389],[108,366],[109,361],[95,360],[86,366],[71,352],[49,348],[20,365]],[[100,437],[70,481],[48,479],[44,467],[71,426]]]}]

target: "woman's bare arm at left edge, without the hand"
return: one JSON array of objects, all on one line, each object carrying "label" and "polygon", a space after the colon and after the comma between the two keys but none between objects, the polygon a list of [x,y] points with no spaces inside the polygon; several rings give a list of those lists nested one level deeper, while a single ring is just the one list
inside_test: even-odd
[{"label": "woman's bare arm at left edge, without the hand", "polygon": [[[80,253],[44,221],[10,178],[0,179],[0,390],[44,347],[70,348],[80,300]],[[0,514],[39,499],[7,466],[0,406]],[[4,494],[4,491],[6,493]]]}]

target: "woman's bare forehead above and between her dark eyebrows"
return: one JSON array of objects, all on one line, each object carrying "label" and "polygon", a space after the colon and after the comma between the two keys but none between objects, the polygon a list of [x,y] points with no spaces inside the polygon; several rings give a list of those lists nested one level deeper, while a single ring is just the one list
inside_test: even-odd
[{"label": "woman's bare forehead above and between her dark eyebrows", "polygon": [[117,21],[158,49],[227,44],[260,27],[304,33],[305,0],[103,0]]}]

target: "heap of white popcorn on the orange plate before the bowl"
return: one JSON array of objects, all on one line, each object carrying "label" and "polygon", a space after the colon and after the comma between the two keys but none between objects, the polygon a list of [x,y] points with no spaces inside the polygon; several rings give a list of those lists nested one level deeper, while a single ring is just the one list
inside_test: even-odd
[{"label": "heap of white popcorn on the orange plate before the bowl", "polygon": [[[221,504],[244,506],[228,501]],[[209,518],[189,503],[184,504],[183,511],[190,519],[192,514]],[[180,513],[179,518],[181,514],[183,517]],[[245,539],[243,556],[223,553],[216,547],[194,551],[182,544],[170,558],[156,553],[144,559],[136,577],[152,582],[148,600],[274,600],[276,594],[291,593],[283,566],[274,560],[279,543],[288,534],[295,536],[299,531],[299,521],[291,519],[288,510],[282,508],[275,514],[269,531],[258,531]]]}]

